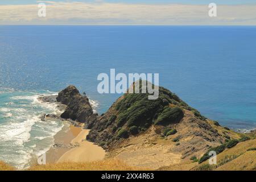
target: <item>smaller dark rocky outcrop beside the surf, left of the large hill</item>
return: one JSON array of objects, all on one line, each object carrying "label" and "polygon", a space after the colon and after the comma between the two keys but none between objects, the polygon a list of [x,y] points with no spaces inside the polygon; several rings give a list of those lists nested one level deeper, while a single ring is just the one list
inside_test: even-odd
[{"label": "smaller dark rocky outcrop beside the surf, left of the large hill", "polygon": [[82,96],[75,86],[68,86],[59,92],[56,100],[67,105],[64,113],[61,114],[61,118],[72,119],[86,125],[92,125],[92,121],[95,121],[95,115],[88,97]]}]

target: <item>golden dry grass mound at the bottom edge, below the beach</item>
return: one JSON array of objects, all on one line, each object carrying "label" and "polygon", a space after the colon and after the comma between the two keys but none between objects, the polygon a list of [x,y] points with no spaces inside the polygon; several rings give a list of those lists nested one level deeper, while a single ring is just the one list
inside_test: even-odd
[{"label": "golden dry grass mound at the bottom edge, below the beach", "polygon": [[28,169],[30,171],[139,171],[147,170],[127,166],[126,163],[117,159],[100,160],[88,163],[58,163],[38,165]]}]

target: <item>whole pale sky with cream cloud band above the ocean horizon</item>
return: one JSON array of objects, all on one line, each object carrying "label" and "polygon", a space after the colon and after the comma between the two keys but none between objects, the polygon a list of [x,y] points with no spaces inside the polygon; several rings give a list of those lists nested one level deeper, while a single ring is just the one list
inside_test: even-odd
[{"label": "whole pale sky with cream cloud band above the ocean horizon", "polygon": [[[38,16],[38,3],[46,4],[46,17]],[[0,24],[256,26],[256,0],[0,0]]]}]

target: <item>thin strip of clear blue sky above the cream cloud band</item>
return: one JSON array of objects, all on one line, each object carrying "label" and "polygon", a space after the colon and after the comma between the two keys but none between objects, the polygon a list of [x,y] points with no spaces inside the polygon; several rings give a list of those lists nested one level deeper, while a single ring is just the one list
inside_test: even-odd
[{"label": "thin strip of clear blue sky above the cream cloud band", "polygon": [[[56,0],[50,0],[56,1]],[[61,0],[59,0],[61,1]],[[59,2],[58,0],[56,2]],[[93,0],[75,0],[76,2],[93,2]],[[72,2],[69,0],[62,0],[62,2]],[[256,4],[256,0],[104,0],[104,2],[115,3],[185,3],[192,5],[207,5],[211,2],[218,5],[241,5],[241,4]],[[0,5],[26,5],[34,4],[36,0],[1,0]]]}]

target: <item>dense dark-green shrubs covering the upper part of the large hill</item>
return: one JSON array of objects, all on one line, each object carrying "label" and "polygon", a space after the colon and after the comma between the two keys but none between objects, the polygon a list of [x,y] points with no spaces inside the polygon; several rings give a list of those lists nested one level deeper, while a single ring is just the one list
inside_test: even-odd
[{"label": "dense dark-green shrubs covering the upper part of the large hill", "polygon": [[[141,90],[140,85],[140,92]],[[124,94],[122,100],[115,105],[117,115],[111,116],[108,124],[115,122],[118,127],[127,129],[131,134],[137,134],[146,131],[153,124],[167,126],[180,122],[184,117],[182,108],[188,105],[176,94],[159,87],[159,97],[156,100],[148,100],[149,95],[148,93]],[[170,104],[177,106],[171,107]],[[175,130],[168,134],[173,133]]]}]

